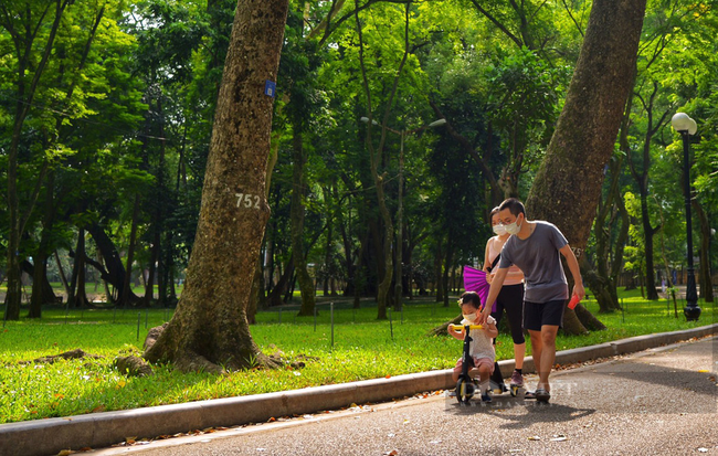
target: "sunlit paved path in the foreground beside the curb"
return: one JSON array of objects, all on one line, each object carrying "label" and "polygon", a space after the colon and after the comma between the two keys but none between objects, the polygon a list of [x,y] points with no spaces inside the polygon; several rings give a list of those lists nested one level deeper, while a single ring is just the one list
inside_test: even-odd
[{"label": "sunlit paved path in the foreground beside the curb", "polygon": [[560,371],[550,404],[434,393],[86,454],[718,455],[717,349],[709,337]]}]

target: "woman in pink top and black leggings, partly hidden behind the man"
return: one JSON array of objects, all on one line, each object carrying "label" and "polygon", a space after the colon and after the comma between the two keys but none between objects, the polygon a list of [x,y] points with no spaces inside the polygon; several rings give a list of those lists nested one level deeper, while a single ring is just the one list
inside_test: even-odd
[{"label": "woman in pink top and black leggings, partly hidden behind the man", "polygon": [[[492,227],[496,234],[494,237],[486,242],[486,253],[484,255],[484,272],[486,273],[486,282],[489,284],[494,278],[492,269],[498,263],[499,254],[504,244],[510,236],[498,218],[498,208],[492,210]],[[513,227],[509,227],[511,230]],[[524,357],[526,356],[526,339],[524,338],[524,273],[517,266],[511,266],[508,271],[504,286],[496,298],[494,309],[492,309],[492,317],[496,319],[496,325],[501,320],[506,310],[508,318],[508,327],[511,330],[511,339],[514,340],[514,359],[516,361],[514,373],[511,374],[511,386],[524,386]],[[500,389],[500,392],[506,391],[504,385],[504,378],[498,369],[494,370],[492,381]]]}]

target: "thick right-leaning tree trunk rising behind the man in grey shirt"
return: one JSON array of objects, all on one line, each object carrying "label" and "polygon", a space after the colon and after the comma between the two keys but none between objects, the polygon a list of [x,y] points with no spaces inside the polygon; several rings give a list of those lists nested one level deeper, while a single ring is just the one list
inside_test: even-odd
[{"label": "thick right-leaning tree trunk rising behind the man in grey shirt", "polygon": [[[644,13],[645,0],[593,2],[563,110],[526,201],[529,219],[555,223],[577,256],[589,238],[632,88]],[[567,314],[564,330],[584,332],[573,311]]]}]

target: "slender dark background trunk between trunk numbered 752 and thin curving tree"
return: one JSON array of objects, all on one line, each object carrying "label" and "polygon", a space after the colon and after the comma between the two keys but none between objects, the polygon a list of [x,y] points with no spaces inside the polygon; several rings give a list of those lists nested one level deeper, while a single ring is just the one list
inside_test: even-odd
[{"label": "slender dark background trunk between trunk numbered 752 and thin curving tree", "polygon": [[306,195],[306,177],[304,174],[304,166],[307,161],[307,156],[304,151],[302,144],[302,134],[294,132],[292,147],[293,158],[293,172],[292,172],[292,253],[294,256],[294,269],[297,273],[297,282],[299,282],[299,290],[302,291],[302,308],[299,309],[300,316],[314,315],[314,307],[316,299],[314,296],[314,280],[307,271],[307,256],[304,248],[304,198]]}]

